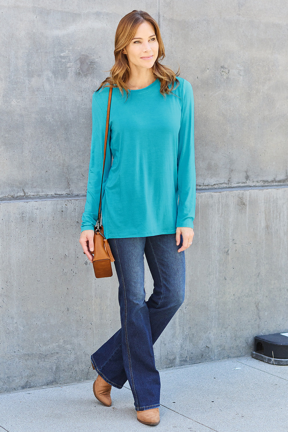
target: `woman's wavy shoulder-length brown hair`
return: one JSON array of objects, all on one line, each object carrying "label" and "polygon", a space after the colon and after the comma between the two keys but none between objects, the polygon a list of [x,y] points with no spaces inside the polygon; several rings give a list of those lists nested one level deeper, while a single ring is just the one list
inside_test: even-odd
[{"label": "woman's wavy shoulder-length brown hair", "polygon": [[[152,66],[152,72],[161,83],[160,93],[165,96],[165,94],[170,93],[173,89],[176,89],[179,86],[179,80],[176,78],[179,76],[179,69],[175,74],[173,70],[169,69],[169,67],[159,63],[159,60],[162,60],[165,57],[165,50],[158,23],[152,18],[152,16],[149,15],[149,13],[143,12],[142,10],[133,10],[132,12],[123,16],[117,26],[114,49],[115,64],[109,71],[110,76],[104,79],[99,88],[96,90],[97,92],[102,87],[117,86],[120,89],[122,96],[123,91],[125,90],[128,97],[129,90],[127,87],[127,81],[130,76],[130,67],[127,56],[123,53],[123,48],[125,48],[131,42],[135,36],[138,26],[145,21],[152,25],[159,44],[158,57]],[[170,85],[171,88],[169,89]]]}]

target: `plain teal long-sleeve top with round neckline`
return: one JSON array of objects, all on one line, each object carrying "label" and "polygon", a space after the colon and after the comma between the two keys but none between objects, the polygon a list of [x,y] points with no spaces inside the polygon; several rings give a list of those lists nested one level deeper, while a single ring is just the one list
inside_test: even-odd
[{"label": "plain teal long-sleeve top with round neckline", "polygon": [[[102,186],[106,238],[146,237],[193,228],[196,201],[194,99],[191,84],[178,77],[174,94],[160,81],[112,91]],[[109,88],[92,96],[92,143],[81,231],[98,218]],[[113,157],[113,159],[112,159]]]}]

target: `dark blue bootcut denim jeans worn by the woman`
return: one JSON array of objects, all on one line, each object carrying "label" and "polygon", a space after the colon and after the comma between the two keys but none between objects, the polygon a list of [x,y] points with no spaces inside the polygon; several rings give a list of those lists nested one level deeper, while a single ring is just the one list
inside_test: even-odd
[{"label": "dark blue bootcut denim jeans worn by the woman", "polygon": [[[129,381],[136,411],[160,406],[160,376],[153,344],[184,302],[185,254],[175,234],[109,238],[119,281],[121,328],[91,356],[114,387]],[[154,281],[145,301],[144,254]]]}]

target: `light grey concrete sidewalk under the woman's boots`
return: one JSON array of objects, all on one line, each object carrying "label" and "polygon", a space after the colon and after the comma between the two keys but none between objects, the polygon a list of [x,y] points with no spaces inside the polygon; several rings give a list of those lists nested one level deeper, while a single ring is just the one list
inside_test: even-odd
[{"label": "light grey concrete sidewalk under the woman's boots", "polygon": [[288,366],[240,357],[160,375],[158,426],[137,422],[128,383],[112,388],[112,406],[104,407],[93,395],[93,381],[85,381],[0,395],[0,431],[288,431]]}]

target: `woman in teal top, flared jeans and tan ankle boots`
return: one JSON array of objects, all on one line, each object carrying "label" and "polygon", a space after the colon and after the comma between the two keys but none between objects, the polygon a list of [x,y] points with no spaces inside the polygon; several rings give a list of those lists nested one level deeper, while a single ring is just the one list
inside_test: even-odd
[{"label": "woman in teal top, flared jeans and tan ankle boots", "polygon": [[[184,251],[194,235],[193,91],[190,83],[159,63],[165,57],[164,45],[157,22],[146,12],[133,10],[120,20],[114,55],[110,77],[92,98],[80,243],[92,261],[112,86],[102,219],[119,280],[121,328],[91,356],[98,372],[93,390],[110,406],[111,386],[122,388],[128,379],[137,420],[156,425],[160,378],[153,344],[184,301]],[[144,254],[154,280],[148,301]]]}]

